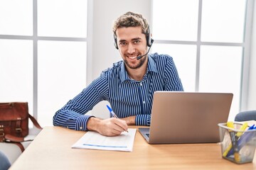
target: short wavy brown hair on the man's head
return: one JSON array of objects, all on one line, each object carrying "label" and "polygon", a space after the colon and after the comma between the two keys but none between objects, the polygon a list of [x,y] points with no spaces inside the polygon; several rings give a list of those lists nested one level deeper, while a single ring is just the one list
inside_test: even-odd
[{"label": "short wavy brown hair on the man's head", "polygon": [[113,25],[113,33],[116,35],[117,28],[127,28],[127,27],[142,27],[142,33],[148,33],[149,23],[146,18],[143,18],[142,14],[127,12],[122,16],[119,16]]}]

